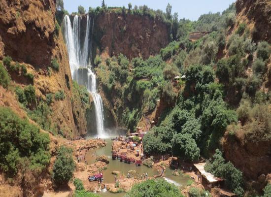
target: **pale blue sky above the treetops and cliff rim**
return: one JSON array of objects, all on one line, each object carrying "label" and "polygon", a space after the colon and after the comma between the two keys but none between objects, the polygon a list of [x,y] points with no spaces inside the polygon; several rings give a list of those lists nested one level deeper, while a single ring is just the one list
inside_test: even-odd
[{"label": "pale blue sky above the treetops and cliff rim", "polygon": [[[107,6],[128,7],[131,2],[134,5],[147,5],[157,10],[166,11],[167,4],[172,5],[172,14],[177,12],[179,18],[198,20],[202,14],[208,12],[222,12],[236,0],[105,0]],[[88,11],[89,7],[101,6],[102,0],[64,0],[64,8],[69,13],[77,11],[77,7],[82,5]]]}]

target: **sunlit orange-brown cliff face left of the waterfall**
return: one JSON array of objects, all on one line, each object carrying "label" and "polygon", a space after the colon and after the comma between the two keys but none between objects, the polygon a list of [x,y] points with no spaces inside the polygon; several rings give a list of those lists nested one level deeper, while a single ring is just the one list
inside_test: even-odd
[{"label": "sunlit orange-brown cliff face left of the waterfall", "polygon": [[[27,66],[34,74],[37,100],[45,100],[49,93],[65,92],[65,99],[51,104],[51,117],[57,129],[72,139],[87,133],[86,111],[80,97],[72,92],[68,52],[62,33],[56,33],[55,13],[55,0],[1,0],[0,59],[8,55]],[[57,60],[60,70],[49,74],[52,59]],[[28,85],[11,77],[16,85]]]}]

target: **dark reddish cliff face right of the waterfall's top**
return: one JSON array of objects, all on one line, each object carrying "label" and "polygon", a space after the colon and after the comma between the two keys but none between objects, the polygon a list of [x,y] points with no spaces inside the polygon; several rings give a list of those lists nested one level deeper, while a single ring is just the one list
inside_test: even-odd
[{"label": "dark reddish cliff face right of the waterfall's top", "polygon": [[148,16],[108,11],[95,19],[93,39],[94,50],[98,46],[110,56],[122,53],[129,59],[145,59],[169,43],[169,33],[166,24]]}]

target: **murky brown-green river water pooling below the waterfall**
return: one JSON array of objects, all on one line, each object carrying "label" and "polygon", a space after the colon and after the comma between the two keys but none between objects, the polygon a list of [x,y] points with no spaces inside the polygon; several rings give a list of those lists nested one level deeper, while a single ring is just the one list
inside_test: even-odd
[{"label": "murky brown-green river water pooling below the waterfall", "polygon": [[[156,168],[149,168],[145,165],[141,166],[135,166],[135,164],[126,164],[123,162],[120,162],[119,160],[112,160],[111,157],[111,150],[112,150],[112,143],[113,141],[111,139],[105,139],[107,142],[105,147],[95,149],[88,151],[86,153],[86,160],[88,164],[95,163],[96,156],[98,155],[105,155],[109,159],[109,164],[107,164],[107,169],[103,171],[103,182],[104,183],[114,183],[115,177],[111,173],[113,170],[119,171],[123,174],[123,176],[126,176],[128,174],[129,170],[135,170],[135,178],[137,178],[137,173],[139,174],[139,177],[141,177],[141,174],[148,173],[148,177],[152,177],[154,175],[157,175],[157,169]],[[169,183],[172,183],[179,187],[180,189],[183,189],[187,185],[187,181],[191,180],[188,176],[185,176],[181,174],[180,176],[174,176],[172,175],[172,172],[174,170],[171,170],[169,167],[166,169],[165,177],[163,177],[166,181]],[[109,192],[101,192],[99,195],[106,196],[106,197],[123,197],[125,193],[119,193],[119,194],[111,194]]]}]

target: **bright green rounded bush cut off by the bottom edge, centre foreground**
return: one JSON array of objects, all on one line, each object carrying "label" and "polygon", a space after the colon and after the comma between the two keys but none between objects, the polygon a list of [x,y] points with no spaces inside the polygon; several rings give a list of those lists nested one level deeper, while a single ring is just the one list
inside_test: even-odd
[{"label": "bright green rounded bush cut off by the bottom edge, centre foreground", "polygon": [[164,179],[146,180],[135,184],[125,197],[183,197],[180,190]]}]

